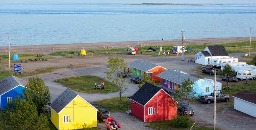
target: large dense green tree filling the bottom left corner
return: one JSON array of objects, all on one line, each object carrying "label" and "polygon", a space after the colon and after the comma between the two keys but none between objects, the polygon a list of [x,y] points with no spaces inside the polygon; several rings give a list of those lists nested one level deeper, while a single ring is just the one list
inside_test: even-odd
[{"label": "large dense green tree filling the bottom left corner", "polygon": [[49,130],[49,121],[44,114],[38,115],[34,103],[16,97],[1,110],[0,129]]}]

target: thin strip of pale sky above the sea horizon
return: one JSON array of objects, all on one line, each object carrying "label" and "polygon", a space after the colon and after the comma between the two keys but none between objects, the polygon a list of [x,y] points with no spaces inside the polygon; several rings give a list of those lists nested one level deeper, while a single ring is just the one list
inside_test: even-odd
[{"label": "thin strip of pale sky above the sea horizon", "polygon": [[0,3],[213,3],[213,4],[248,4],[255,0],[0,0]]}]

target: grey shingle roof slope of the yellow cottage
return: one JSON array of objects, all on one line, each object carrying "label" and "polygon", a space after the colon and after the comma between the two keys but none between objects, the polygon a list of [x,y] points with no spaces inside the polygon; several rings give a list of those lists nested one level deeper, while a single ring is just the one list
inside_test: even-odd
[{"label": "grey shingle roof slope of the yellow cottage", "polygon": [[71,90],[70,88],[67,88],[59,97],[57,97],[50,106],[55,110],[56,113],[59,113],[64,107],[70,103],[77,94]]}]

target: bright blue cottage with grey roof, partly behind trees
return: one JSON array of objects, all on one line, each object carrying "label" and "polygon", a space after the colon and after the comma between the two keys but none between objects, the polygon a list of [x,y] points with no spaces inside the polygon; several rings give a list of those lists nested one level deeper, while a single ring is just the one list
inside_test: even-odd
[{"label": "bright blue cottage with grey roof, partly behind trees", "polygon": [[25,88],[28,82],[17,78],[13,75],[6,77],[0,81],[0,109],[7,104],[7,101],[13,101],[13,98],[20,96],[22,89]]}]

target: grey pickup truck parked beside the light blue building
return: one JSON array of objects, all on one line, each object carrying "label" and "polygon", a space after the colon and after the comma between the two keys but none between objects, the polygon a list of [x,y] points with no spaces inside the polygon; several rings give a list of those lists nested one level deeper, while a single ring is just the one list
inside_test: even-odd
[{"label": "grey pickup truck parked beside the light blue building", "polygon": [[[216,93],[216,101],[225,101],[228,102],[229,96],[223,95],[221,93]],[[207,104],[210,104],[211,102],[214,102],[214,93],[212,93],[209,96],[200,96],[198,97],[198,101],[206,102]]]}]

